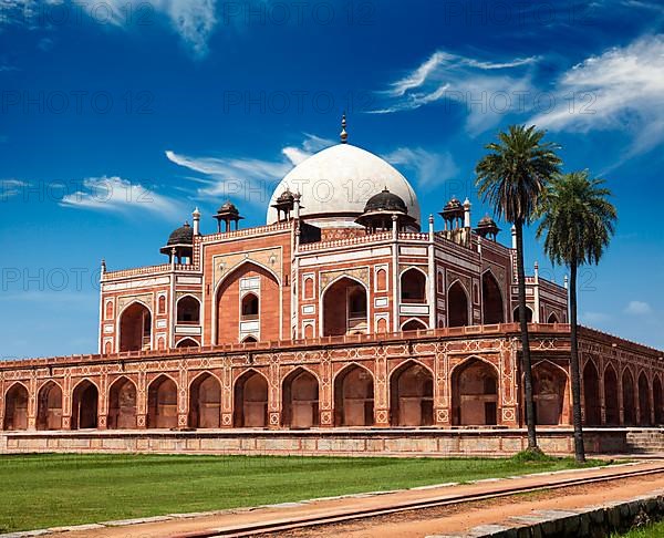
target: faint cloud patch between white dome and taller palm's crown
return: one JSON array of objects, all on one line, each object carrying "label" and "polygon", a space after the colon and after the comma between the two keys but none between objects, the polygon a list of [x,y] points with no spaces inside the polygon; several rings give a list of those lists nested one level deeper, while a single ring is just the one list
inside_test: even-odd
[{"label": "faint cloud patch between white dome and taller palm's crown", "polygon": [[[459,167],[449,152],[432,152],[422,147],[398,147],[383,155],[395,166],[412,170],[419,187],[434,187],[459,173]],[[413,177],[413,176],[411,176]]]}]

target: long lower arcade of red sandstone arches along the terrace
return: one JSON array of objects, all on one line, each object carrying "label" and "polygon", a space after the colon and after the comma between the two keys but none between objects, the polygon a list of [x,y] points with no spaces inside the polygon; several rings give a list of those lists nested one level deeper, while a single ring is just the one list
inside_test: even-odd
[{"label": "long lower arcade of red sandstone arches along the terrace", "polygon": [[[345,297],[363,291],[353,280],[336,283]],[[27,371],[25,379],[12,374],[10,381],[6,369],[0,371],[0,424],[4,431],[54,431],[523,423],[518,355],[499,351],[507,350],[500,340],[468,340],[474,350],[496,350],[476,354],[460,352],[461,340],[409,334],[411,340],[396,343],[331,344],[298,353],[257,348],[224,356],[188,352],[177,361],[142,358],[104,374],[97,365],[66,366],[68,377],[50,379],[42,369],[42,377]],[[568,351],[552,351],[560,340],[547,340],[539,350],[538,342],[536,335],[537,422],[570,425]],[[450,351],[434,351],[436,345]],[[585,424],[662,424],[663,372],[649,369],[645,361],[605,356],[581,352]]]}]

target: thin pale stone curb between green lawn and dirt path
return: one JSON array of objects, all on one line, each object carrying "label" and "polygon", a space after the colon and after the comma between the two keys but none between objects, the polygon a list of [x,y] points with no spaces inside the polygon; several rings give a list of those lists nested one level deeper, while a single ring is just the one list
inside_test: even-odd
[{"label": "thin pale stone curb between green lawn and dirt path", "polygon": [[[527,475],[506,476],[502,478],[480,478],[477,480],[466,482],[465,484],[485,484],[485,483],[496,483],[496,482],[501,482],[501,480],[515,480],[515,479],[519,479],[519,478],[526,478],[529,476],[557,476],[557,475],[560,475],[563,473],[583,473],[583,472],[588,472],[588,470],[598,470],[598,469],[603,469],[603,468],[631,467],[631,466],[635,466],[635,465],[643,465],[644,463],[645,463],[644,461],[627,462],[627,463],[610,465],[606,467],[584,467],[584,468],[582,467],[582,468],[575,468],[575,469],[548,470],[548,472],[543,472],[543,473],[531,473],[531,474],[527,474]],[[51,534],[55,534],[55,532],[68,532],[68,531],[75,531],[75,530],[96,530],[96,529],[102,529],[105,527],[124,527],[124,526],[132,526],[132,525],[139,525],[139,524],[168,521],[168,520],[174,520],[174,519],[193,519],[193,518],[198,518],[198,517],[224,516],[224,515],[228,515],[228,514],[241,514],[241,513],[253,511],[257,509],[264,509],[264,508],[269,509],[269,508],[284,508],[284,507],[293,507],[293,506],[303,506],[303,505],[311,504],[311,503],[320,503],[322,500],[341,500],[341,499],[349,499],[349,498],[375,497],[378,495],[387,495],[387,494],[394,494],[394,493],[401,493],[401,492],[417,492],[417,490],[423,490],[423,489],[425,490],[425,489],[447,488],[447,487],[453,487],[453,486],[458,486],[458,485],[459,485],[458,482],[448,482],[445,484],[432,484],[428,486],[415,486],[415,487],[409,487],[409,488],[405,488],[405,489],[391,489],[391,490],[384,490],[384,492],[364,492],[364,493],[359,493],[359,494],[336,495],[333,497],[315,497],[313,499],[298,500],[298,501],[293,501],[293,503],[280,503],[280,504],[276,504],[276,505],[238,507],[238,508],[228,508],[225,510],[197,511],[197,513],[190,513],[190,514],[167,514],[165,516],[152,516],[152,517],[144,517],[144,518],[135,518],[135,519],[118,519],[118,520],[114,520],[114,521],[104,521],[104,523],[98,523],[98,524],[73,525],[73,526],[66,526],[66,527],[50,527],[48,529],[37,529],[37,530],[21,530],[18,532],[9,532],[9,534],[0,535],[0,538],[31,538],[34,536],[44,536],[44,535],[51,535]],[[466,535],[458,535],[458,536],[466,536]],[[458,536],[455,536],[455,538],[458,538]],[[473,536],[475,538],[475,535],[468,535],[468,536]],[[487,536],[490,536],[490,535],[487,535]]]}]

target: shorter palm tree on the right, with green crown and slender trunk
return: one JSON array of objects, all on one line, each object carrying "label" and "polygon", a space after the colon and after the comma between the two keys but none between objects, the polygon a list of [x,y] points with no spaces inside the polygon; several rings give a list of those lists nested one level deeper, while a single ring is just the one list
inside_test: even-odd
[{"label": "shorter palm tree on the right, with green crown and slender trunk", "polygon": [[537,230],[544,239],[544,251],[553,263],[570,269],[570,370],[572,374],[572,415],[574,455],[585,461],[581,426],[581,374],[577,340],[577,269],[599,263],[615,229],[615,207],[606,199],[611,192],[604,180],[590,178],[588,170],[556,177],[541,206],[542,221]]}]

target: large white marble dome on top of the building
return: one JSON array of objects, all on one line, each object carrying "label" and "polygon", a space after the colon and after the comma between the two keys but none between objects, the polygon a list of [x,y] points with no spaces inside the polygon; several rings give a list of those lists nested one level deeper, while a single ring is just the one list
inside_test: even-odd
[{"label": "large white marble dome on top of the building", "polygon": [[408,180],[386,161],[351,144],[328,147],[289,172],[272,193],[268,224],[277,221],[272,204],[287,188],[300,193],[300,215],[315,226],[355,226],[369,198],[384,188],[403,198],[408,215],[419,223],[419,204]]}]

